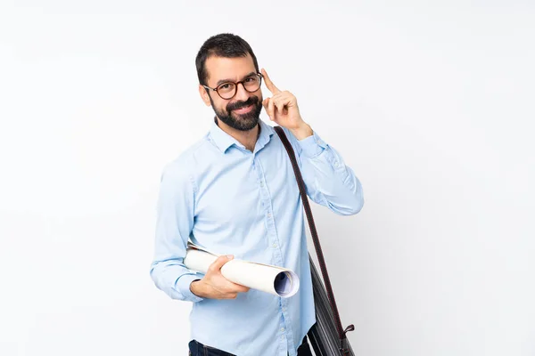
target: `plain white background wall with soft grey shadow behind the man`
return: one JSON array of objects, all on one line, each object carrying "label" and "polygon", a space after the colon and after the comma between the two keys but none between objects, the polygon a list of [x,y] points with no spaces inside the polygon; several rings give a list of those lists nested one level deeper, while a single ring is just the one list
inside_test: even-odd
[{"label": "plain white background wall with soft grey shadow behind the man", "polygon": [[194,57],[230,31],[364,186],[358,215],[313,206],[355,353],[535,355],[534,14],[2,1],[0,354],[186,354],[190,303],[149,277],[155,199],[210,127]]}]

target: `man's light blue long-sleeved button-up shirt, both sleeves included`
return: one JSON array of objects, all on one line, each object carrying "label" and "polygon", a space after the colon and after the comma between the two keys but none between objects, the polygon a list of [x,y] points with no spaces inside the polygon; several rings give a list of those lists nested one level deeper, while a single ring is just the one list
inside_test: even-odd
[{"label": "man's light blue long-sleeved button-up shirt, both sleeves included", "polygon": [[[316,322],[299,189],[273,127],[262,120],[254,151],[215,122],[202,140],[164,167],[151,277],[173,299],[193,302],[191,338],[238,356],[296,355]],[[357,214],[362,187],[341,155],[316,132],[297,140],[307,195],[335,214]],[[203,299],[190,284],[202,274],[183,264],[187,240],[221,255],[289,268],[300,278],[290,298],[255,289],[235,299]]]}]

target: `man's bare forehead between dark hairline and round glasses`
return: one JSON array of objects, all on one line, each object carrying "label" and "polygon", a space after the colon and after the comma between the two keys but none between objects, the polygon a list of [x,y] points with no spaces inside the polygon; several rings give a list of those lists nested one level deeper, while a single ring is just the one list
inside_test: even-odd
[{"label": "man's bare forehead between dark hairline and round glasses", "polygon": [[205,63],[208,80],[217,82],[222,79],[240,80],[251,72],[256,72],[250,54],[246,57],[217,57],[211,56]]}]

